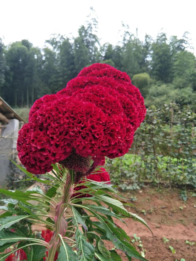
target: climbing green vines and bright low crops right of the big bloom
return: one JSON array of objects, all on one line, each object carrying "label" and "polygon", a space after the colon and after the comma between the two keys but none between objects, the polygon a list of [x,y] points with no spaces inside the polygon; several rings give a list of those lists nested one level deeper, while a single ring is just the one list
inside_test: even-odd
[{"label": "climbing green vines and bright low crops right of the big bloom", "polygon": [[122,190],[138,189],[144,182],[196,188],[195,116],[189,106],[183,110],[174,103],[158,109],[151,106],[135,133],[130,154],[107,159],[116,184]]}]

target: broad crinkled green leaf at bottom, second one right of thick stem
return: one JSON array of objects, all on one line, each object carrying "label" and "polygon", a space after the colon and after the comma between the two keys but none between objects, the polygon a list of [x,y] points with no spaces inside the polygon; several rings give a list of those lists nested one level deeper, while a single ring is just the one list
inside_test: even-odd
[{"label": "broad crinkled green leaf at bottom, second one right of thick stem", "polygon": [[86,241],[86,238],[84,237],[80,229],[76,230],[75,237],[77,245],[77,260],[92,261],[95,253],[94,245]]}]

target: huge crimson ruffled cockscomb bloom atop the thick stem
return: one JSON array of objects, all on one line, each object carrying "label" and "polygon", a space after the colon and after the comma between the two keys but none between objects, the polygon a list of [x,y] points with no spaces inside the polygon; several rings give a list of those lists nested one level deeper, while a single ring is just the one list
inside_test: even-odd
[{"label": "huge crimson ruffled cockscomb bloom atop the thick stem", "polygon": [[129,150],[145,113],[144,99],[126,73],[93,64],[66,88],[33,104],[29,123],[19,132],[18,156],[34,174],[50,171],[56,162],[90,173],[105,156]]}]

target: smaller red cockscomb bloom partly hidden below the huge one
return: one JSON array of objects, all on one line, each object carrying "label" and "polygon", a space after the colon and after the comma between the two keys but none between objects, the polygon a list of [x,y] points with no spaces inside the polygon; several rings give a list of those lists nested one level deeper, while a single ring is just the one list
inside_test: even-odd
[{"label": "smaller red cockscomb bloom partly hidden below the huge one", "polygon": [[[108,181],[107,183],[110,183],[110,174],[104,169],[100,168],[99,170],[96,170],[96,172],[88,175],[86,177],[87,179],[93,180],[93,181]],[[82,184],[84,181],[79,181],[78,184]],[[86,186],[81,185],[74,188],[75,191],[81,190],[83,188],[86,188]],[[73,196],[77,196],[77,198],[84,198],[84,197],[91,197],[89,194],[81,194],[80,192],[74,193]]]}]

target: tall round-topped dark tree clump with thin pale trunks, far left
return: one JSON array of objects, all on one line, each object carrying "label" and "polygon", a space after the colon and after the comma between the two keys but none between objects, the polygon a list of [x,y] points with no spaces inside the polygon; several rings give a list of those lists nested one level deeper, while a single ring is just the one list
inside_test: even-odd
[{"label": "tall round-topped dark tree clump with thin pale trunks, far left", "polygon": [[[5,52],[9,71],[3,86],[3,95],[8,103],[15,106],[29,106],[40,88],[41,52],[24,39],[12,43]],[[39,62],[38,62],[39,60]]]}]

